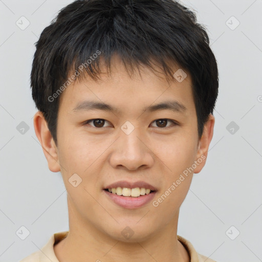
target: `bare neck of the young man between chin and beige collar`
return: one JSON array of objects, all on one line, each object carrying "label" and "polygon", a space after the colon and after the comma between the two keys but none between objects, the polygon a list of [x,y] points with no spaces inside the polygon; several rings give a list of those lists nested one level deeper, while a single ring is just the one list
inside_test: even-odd
[{"label": "bare neck of the young man between chin and beige collar", "polygon": [[189,254],[177,239],[178,213],[141,241],[123,242],[83,221],[69,203],[69,234],[54,246],[54,252],[60,262],[189,262]]}]

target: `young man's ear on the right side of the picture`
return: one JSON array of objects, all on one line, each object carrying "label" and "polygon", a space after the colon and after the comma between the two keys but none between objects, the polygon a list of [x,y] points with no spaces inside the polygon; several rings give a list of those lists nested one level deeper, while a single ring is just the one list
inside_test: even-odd
[{"label": "young man's ear on the right side of the picture", "polygon": [[198,143],[198,152],[195,157],[195,161],[197,161],[199,164],[194,169],[194,173],[199,173],[206,164],[208,147],[213,137],[214,123],[214,116],[209,114],[208,121],[204,125],[202,137]]}]

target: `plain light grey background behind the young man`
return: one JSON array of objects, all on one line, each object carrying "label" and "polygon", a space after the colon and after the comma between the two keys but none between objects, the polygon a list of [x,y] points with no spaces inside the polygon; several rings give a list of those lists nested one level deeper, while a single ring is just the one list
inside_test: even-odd
[{"label": "plain light grey background behind the young man", "polygon": [[[68,230],[63,181],[60,173],[49,170],[34,133],[29,78],[34,43],[69,3],[0,0],[0,261],[18,261],[53,233]],[[207,164],[194,174],[178,234],[199,253],[221,262],[262,261],[262,1],[181,3],[197,11],[207,27],[220,90]],[[30,21],[25,30],[16,25],[22,26],[21,16]],[[29,128],[24,134],[18,132],[22,121]],[[16,234],[21,226],[30,231],[25,240]]]}]

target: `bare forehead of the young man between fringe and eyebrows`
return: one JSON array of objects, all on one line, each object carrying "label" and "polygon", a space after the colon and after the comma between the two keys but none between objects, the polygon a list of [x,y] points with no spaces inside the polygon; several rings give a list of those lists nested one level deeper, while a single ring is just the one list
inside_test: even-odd
[{"label": "bare forehead of the young man between fringe and eyebrows", "polygon": [[[160,70],[153,72],[152,69],[144,66],[135,69],[130,75],[118,57],[111,62],[110,75],[103,65],[101,69],[100,79],[97,81],[88,76],[81,76],[81,81],[76,80],[70,84],[61,94],[59,108],[66,106],[67,110],[81,111],[81,108],[90,107],[92,103],[94,106],[96,102],[97,108],[100,106],[115,111],[128,107],[128,104],[130,110],[132,106],[136,107],[138,104],[141,105],[142,110],[145,110],[146,104],[158,103],[159,106],[159,102],[165,101],[167,103],[164,106],[176,107],[183,111],[184,107],[190,107],[185,103],[192,102],[190,74],[185,70],[182,72],[178,67],[173,67],[172,81],[167,81]],[[184,79],[181,81],[181,78]],[[173,101],[174,98],[177,103]],[[167,105],[168,100],[169,105]],[[154,105],[151,105],[148,110],[152,111]]]}]

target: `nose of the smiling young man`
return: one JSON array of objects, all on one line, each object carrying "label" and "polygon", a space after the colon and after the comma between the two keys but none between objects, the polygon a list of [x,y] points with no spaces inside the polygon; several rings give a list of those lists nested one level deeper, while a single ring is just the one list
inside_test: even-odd
[{"label": "nose of the smiling young man", "polygon": [[143,139],[136,128],[129,135],[121,130],[120,137],[114,143],[110,164],[114,168],[121,167],[130,171],[145,169],[154,164],[154,153],[147,139]]}]

